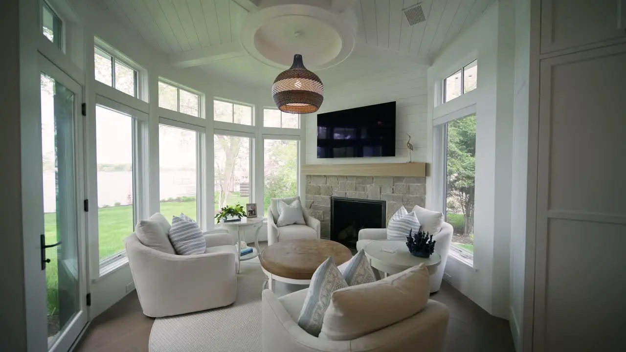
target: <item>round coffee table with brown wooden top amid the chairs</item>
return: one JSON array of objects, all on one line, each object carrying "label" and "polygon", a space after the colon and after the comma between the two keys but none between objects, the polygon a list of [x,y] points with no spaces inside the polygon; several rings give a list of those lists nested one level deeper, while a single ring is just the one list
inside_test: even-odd
[{"label": "round coffee table with brown wooden top amid the chairs", "polygon": [[272,280],[287,284],[308,285],[317,267],[332,257],[337,266],[352,257],[348,247],[326,239],[294,239],[280,241],[265,248],[260,256],[261,269]]}]

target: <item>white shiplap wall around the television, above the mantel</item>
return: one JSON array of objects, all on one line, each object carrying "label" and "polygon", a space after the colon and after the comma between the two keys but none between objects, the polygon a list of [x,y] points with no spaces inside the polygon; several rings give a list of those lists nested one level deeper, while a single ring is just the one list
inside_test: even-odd
[{"label": "white shiplap wall around the television, above the mantel", "polygon": [[380,158],[317,159],[317,114],[304,116],[305,163],[398,163],[408,162],[408,136],[413,143],[413,161],[426,162],[426,70],[388,70],[363,76],[342,85],[325,87],[318,113],[396,101],[396,156]]}]

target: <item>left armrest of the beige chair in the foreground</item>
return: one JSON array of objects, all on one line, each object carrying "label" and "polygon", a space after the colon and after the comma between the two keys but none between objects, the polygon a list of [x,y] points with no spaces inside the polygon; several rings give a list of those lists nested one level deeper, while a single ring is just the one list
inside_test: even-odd
[{"label": "left armrest of the beige chair in the foreground", "polygon": [[280,304],[274,292],[262,294],[262,351],[350,351],[350,341],[328,341],[304,331]]}]

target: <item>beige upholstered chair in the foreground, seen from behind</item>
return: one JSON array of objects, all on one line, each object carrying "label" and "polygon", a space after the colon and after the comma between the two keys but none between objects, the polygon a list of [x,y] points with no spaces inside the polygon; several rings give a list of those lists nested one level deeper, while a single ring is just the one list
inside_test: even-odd
[{"label": "beige upholstered chair in the foreground, seen from behind", "polygon": [[419,313],[373,333],[346,341],[317,338],[298,326],[307,290],[277,298],[263,291],[263,352],[434,352],[443,348],[448,307],[429,300]]}]

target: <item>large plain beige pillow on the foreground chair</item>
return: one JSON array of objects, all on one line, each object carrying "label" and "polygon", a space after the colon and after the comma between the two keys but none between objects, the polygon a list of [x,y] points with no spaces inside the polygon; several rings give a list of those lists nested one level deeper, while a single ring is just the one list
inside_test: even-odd
[{"label": "large plain beige pillow on the foreground chair", "polygon": [[426,307],[429,291],[424,264],[376,282],[334,291],[319,337],[346,341],[398,323]]}]

